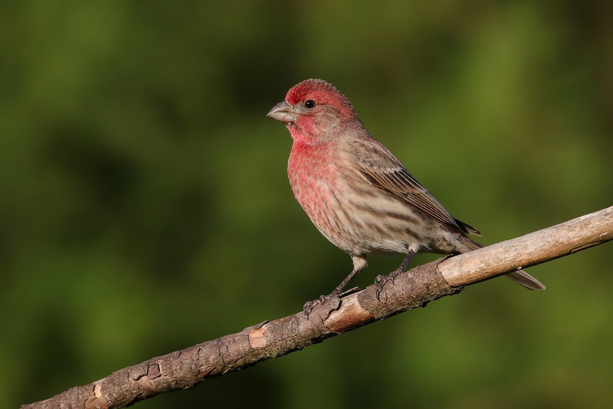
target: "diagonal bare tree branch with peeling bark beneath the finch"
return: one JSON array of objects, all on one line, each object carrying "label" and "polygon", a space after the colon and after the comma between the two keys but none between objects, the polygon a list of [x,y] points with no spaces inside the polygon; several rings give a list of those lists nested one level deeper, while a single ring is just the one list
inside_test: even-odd
[{"label": "diagonal bare tree branch with peeling bark beneath the finch", "polygon": [[415,267],[388,280],[300,312],[264,321],[237,334],[191,346],[113,372],[22,408],[123,408],[456,294],[463,286],[566,256],[613,239],[613,206],[452,258]]}]

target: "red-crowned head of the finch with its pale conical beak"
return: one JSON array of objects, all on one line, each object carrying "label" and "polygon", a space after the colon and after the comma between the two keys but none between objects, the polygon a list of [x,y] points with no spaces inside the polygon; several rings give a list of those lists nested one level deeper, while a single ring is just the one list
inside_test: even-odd
[{"label": "red-crowned head of the finch with its pale conical beak", "polygon": [[349,124],[362,122],[351,102],[330,83],[309,79],[294,85],[285,101],[276,104],[268,117],[286,123],[295,140],[318,143],[332,140],[346,131]]}]

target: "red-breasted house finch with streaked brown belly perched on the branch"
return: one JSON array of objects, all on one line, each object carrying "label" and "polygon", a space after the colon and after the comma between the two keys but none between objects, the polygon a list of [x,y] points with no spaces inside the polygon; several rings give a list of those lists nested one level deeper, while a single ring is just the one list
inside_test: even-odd
[{"label": "red-breasted house finch with streaked brown belly perched on the branch", "polygon": [[[340,294],[367,266],[369,254],[406,254],[394,277],[415,253],[481,248],[468,238],[481,233],[449,214],[368,133],[351,102],[330,83],[309,79],[293,86],[267,116],[285,123],[294,139],[287,176],[295,198],[321,234],[353,261],[348,277],[322,300]],[[523,271],[506,277],[544,289]]]}]

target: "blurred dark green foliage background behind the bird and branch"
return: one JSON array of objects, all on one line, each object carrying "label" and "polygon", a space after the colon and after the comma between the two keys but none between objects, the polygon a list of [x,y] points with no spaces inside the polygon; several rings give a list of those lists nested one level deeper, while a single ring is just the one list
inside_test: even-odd
[{"label": "blurred dark green foliage background behind the bird and branch", "polygon": [[[298,312],[345,277],[265,117],[305,78],[345,93],[485,244],[611,205],[611,15],[2,2],[0,407]],[[136,407],[612,407],[611,250],[531,268],[544,292],[491,280]],[[401,260],[371,259],[356,285]]]}]

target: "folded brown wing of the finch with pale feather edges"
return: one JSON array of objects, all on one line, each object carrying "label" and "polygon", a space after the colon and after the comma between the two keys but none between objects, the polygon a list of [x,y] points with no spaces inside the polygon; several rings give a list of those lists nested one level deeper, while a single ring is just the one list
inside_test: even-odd
[{"label": "folded brown wing of the finch with pale feather edges", "polygon": [[481,235],[477,229],[455,219],[398,159],[375,139],[360,140],[354,154],[360,172],[373,185],[400,197],[417,209],[462,234]]}]

